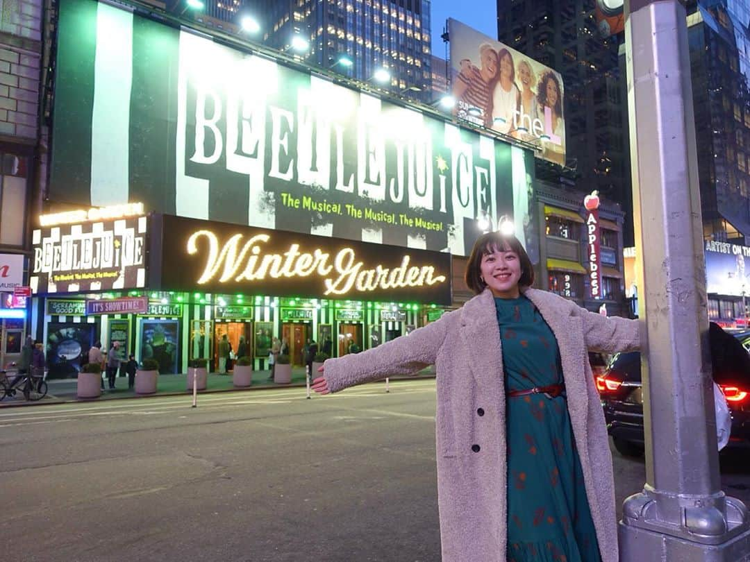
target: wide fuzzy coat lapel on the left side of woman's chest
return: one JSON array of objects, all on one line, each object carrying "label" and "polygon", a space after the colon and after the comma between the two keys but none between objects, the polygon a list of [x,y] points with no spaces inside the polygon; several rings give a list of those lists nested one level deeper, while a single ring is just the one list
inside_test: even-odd
[{"label": "wide fuzzy coat lapel on the left side of woman's chest", "polygon": [[460,336],[475,381],[482,390],[491,391],[499,386],[503,393],[504,385],[497,384],[502,381],[502,349],[492,293],[485,289],[461,310]]}]

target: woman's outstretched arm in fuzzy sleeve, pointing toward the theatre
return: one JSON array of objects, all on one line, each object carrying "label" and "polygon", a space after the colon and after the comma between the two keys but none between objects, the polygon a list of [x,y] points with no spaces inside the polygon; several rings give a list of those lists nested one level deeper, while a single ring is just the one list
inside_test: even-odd
[{"label": "woman's outstretched arm in fuzzy sleeve, pointing toward the theatre", "polygon": [[440,320],[377,348],[326,360],[317,373],[323,376],[314,379],[312,389],[328,394],[388,376],[410,375],[432,365],[446,339],[450,316],[455,313],[449,312]]}]

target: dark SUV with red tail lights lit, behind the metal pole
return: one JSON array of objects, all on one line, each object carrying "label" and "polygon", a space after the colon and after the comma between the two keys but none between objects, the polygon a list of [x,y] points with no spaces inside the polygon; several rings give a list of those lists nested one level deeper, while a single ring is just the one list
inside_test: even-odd
[{"label": "dark SUV with red tail lights lit, behind the metal pole", "polygon": [[[730,335],[712,324],[709,339],[714,381],[724,393],[732,415],[727,447],[750,447],[750,331]],[[616,450],[625,456],[640,456],[643,454],[640,353],[613,355],[604,374],[595,379],[607,430]]]}]

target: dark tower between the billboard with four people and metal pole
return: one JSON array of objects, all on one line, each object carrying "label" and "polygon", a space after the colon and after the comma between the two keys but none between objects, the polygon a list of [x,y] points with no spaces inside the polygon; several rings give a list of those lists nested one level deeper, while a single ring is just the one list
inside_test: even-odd
[{"label": "dark tower between the billboard with four people and metal pole", "polygon": [[[565,86],[566,166],[583,190],[598,190],[625,211],[625,239],[632,241],[631,185],[622,34],[602,37],[595,0],[498,0],[497,37],[562,74]],[[538,177],[557,182],[557,166],[540,160]],[[571,173],[572,172],[572,173]]]}]

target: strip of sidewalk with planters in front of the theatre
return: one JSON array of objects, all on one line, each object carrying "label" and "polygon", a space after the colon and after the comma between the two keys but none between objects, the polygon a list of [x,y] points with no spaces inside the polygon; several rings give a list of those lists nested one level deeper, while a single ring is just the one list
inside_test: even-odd
[{"label": "strip of sidewalk with planters in front of the theatre", "polygon": [[[253,372],[253,384],[250,387],[234,387],[232,384],[232,373],[229,375],[220,375],[219,373],[210,373],[206,390],[199,390],[199,394],[214,392],[243,392],[246,390],[269,390],[277,388],[299,388],[305,387],[305,369],[295,367],[292,370],[292,382],[289,384],[276,384],[269,381],[270,371]],[[404,380],[414,378],[434,378],[434,367],[428,367],[409,377],[396,377],[390,380]],[[106,385],[105,381],[105,385]],[[17,393],[13,398],[6,397],[0,401],[0,408],[12,406],[29,406],[41,404],[62,404],[65,402],[98,402],[101,400],[113,400],[124,398],[149,398],[151,396],[174,396],[190,395],[192,391],[187,389],[187,375],[159,375],[157,381],[157,391],[154,394],[136,394],[134,390],[127,389],[127,377],[118,377],[115,381],[115,390],[104,390],[99,398],[79,399],[76,394],[77,381],[74,378],[52,379],[47,381],[49,390],[47,395],[37,401],[30,402],[23,397],[23,393]]]}]

